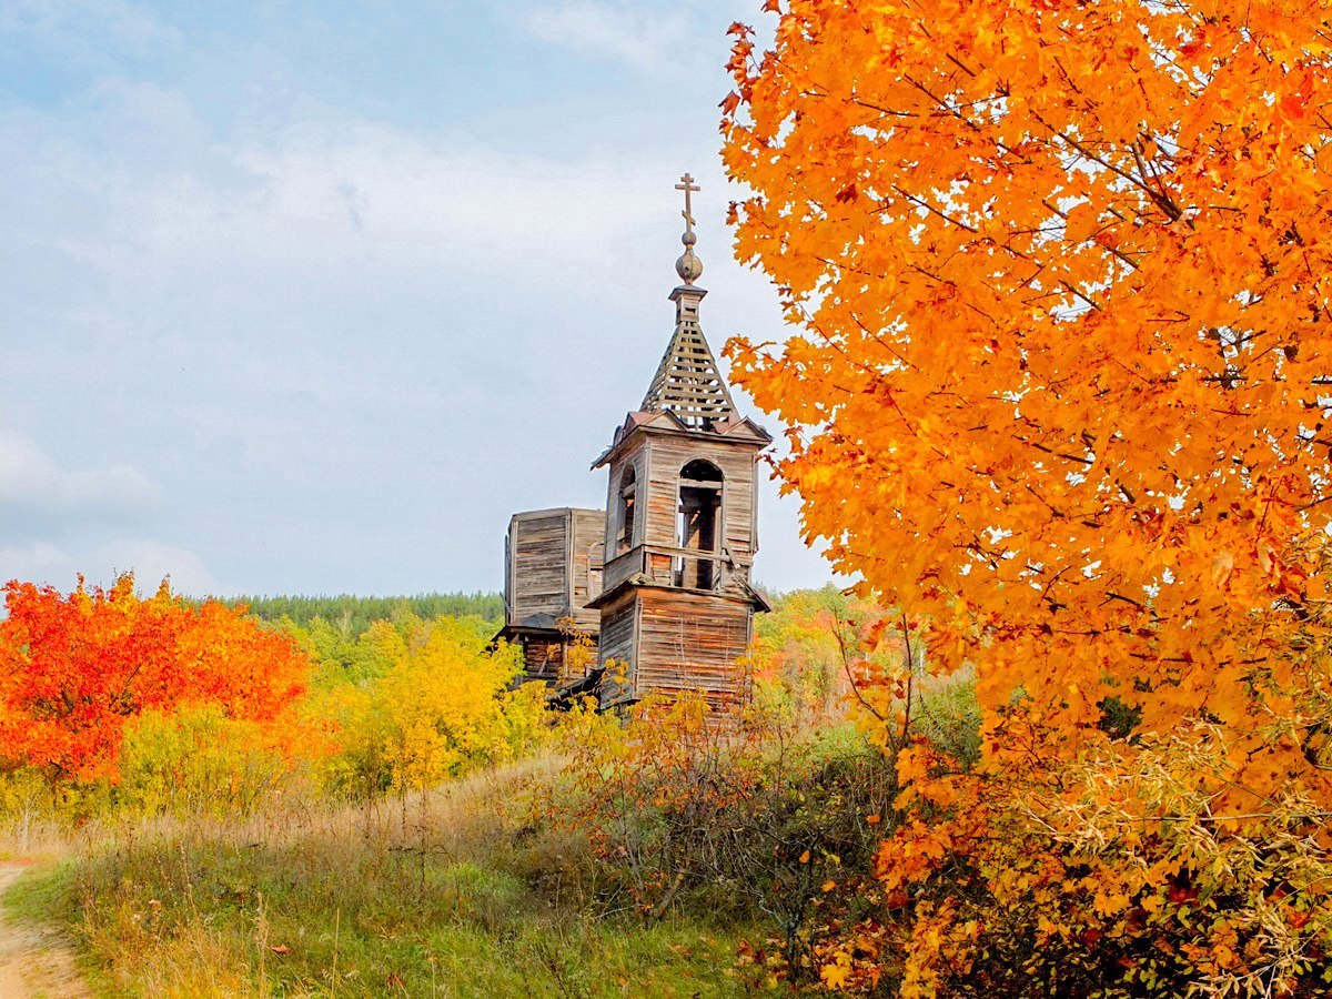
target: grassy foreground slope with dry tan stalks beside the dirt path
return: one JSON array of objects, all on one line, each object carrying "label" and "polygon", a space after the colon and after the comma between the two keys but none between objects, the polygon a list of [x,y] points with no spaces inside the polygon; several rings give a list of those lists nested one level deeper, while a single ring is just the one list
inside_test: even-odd
[{"label": "grassy foreground slope with dry tan stalks beside the dirt path", "polygon": [[586,842],[525,822],[551,773],[103,827],[11,904],[64,923],[107,995],[743,995],[741,927],[590,904]]}]

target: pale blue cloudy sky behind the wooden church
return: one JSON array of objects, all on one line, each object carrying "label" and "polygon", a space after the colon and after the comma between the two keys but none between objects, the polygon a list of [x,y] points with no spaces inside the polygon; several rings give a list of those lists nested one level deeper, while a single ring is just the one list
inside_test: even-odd
[{"label": "pale blue cloudy sky behind the wooden church", "polygon": [[0,579],[498,589],[511,511],[605,502],[681,172],[714,348],[783,336],[717,157],[759,7],[0,0]]}]

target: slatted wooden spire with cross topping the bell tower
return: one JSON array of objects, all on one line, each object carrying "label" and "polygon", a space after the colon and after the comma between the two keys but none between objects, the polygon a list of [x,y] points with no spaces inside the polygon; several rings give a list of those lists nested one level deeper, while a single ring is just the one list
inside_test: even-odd
[{"label": "slatted wooden spire with cross topping the bell tower", "polygon": [[698,304],[707,294],[702,288],[694,286],[694,281],[703,273],[703,264],[694,254],[698,237],[694,234],[690,200],[690,194],[698,188],[687,173],[675,189],[685,192],[685,234],[681,237],[685,253],[675,261],[675,273],[685,284],[670,293],[675,302],[675,334],[653,376],[642,410],[667,410],[691,429],[711,430],[734,416],[735,404],[717,366],[717,358],[707,346],[703,329],[698,325]]}]

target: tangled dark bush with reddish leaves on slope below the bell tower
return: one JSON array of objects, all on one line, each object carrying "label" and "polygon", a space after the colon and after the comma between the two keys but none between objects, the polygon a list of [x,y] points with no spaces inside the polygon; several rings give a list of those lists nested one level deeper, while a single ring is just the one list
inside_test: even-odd
[{"label": "tangled dark bush with reddish leaves on slope below the bell tower", "polygon": [[895,793],[891,763],[846,727],[723,722],[702,697],[646,699],[627,727],[570,733],[571,791],[554,821],[602,867],[597,904],[647,919],[762,927],[766,972],[811,968],[823,898],[862,878]]}]

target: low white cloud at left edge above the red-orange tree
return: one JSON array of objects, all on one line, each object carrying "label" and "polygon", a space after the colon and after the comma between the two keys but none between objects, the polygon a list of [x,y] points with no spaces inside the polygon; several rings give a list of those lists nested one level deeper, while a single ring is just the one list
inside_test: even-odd
[{"label": "low white cloud at left edge above the red-orange tree", "polygon": [[161,489],[131,465],[67,472],[35,441],[0,428],[0,509],[124,514],[161,498]]}]

